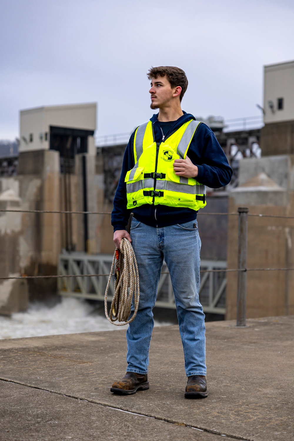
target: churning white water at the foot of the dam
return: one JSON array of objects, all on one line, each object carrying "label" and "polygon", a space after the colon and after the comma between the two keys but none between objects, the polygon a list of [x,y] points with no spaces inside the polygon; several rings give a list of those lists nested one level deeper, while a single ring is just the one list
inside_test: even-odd
[{"label": "churning white water at the foot of the dam", "polygon": [[[11,317],[0,316],[0,340],[127,329],[127,325],[112,325],[94,309],[85,300],[67,297],[52,308],[32,304],[26,312],[12,314]],[[154,323],[155,326],[168,324]]]}]

